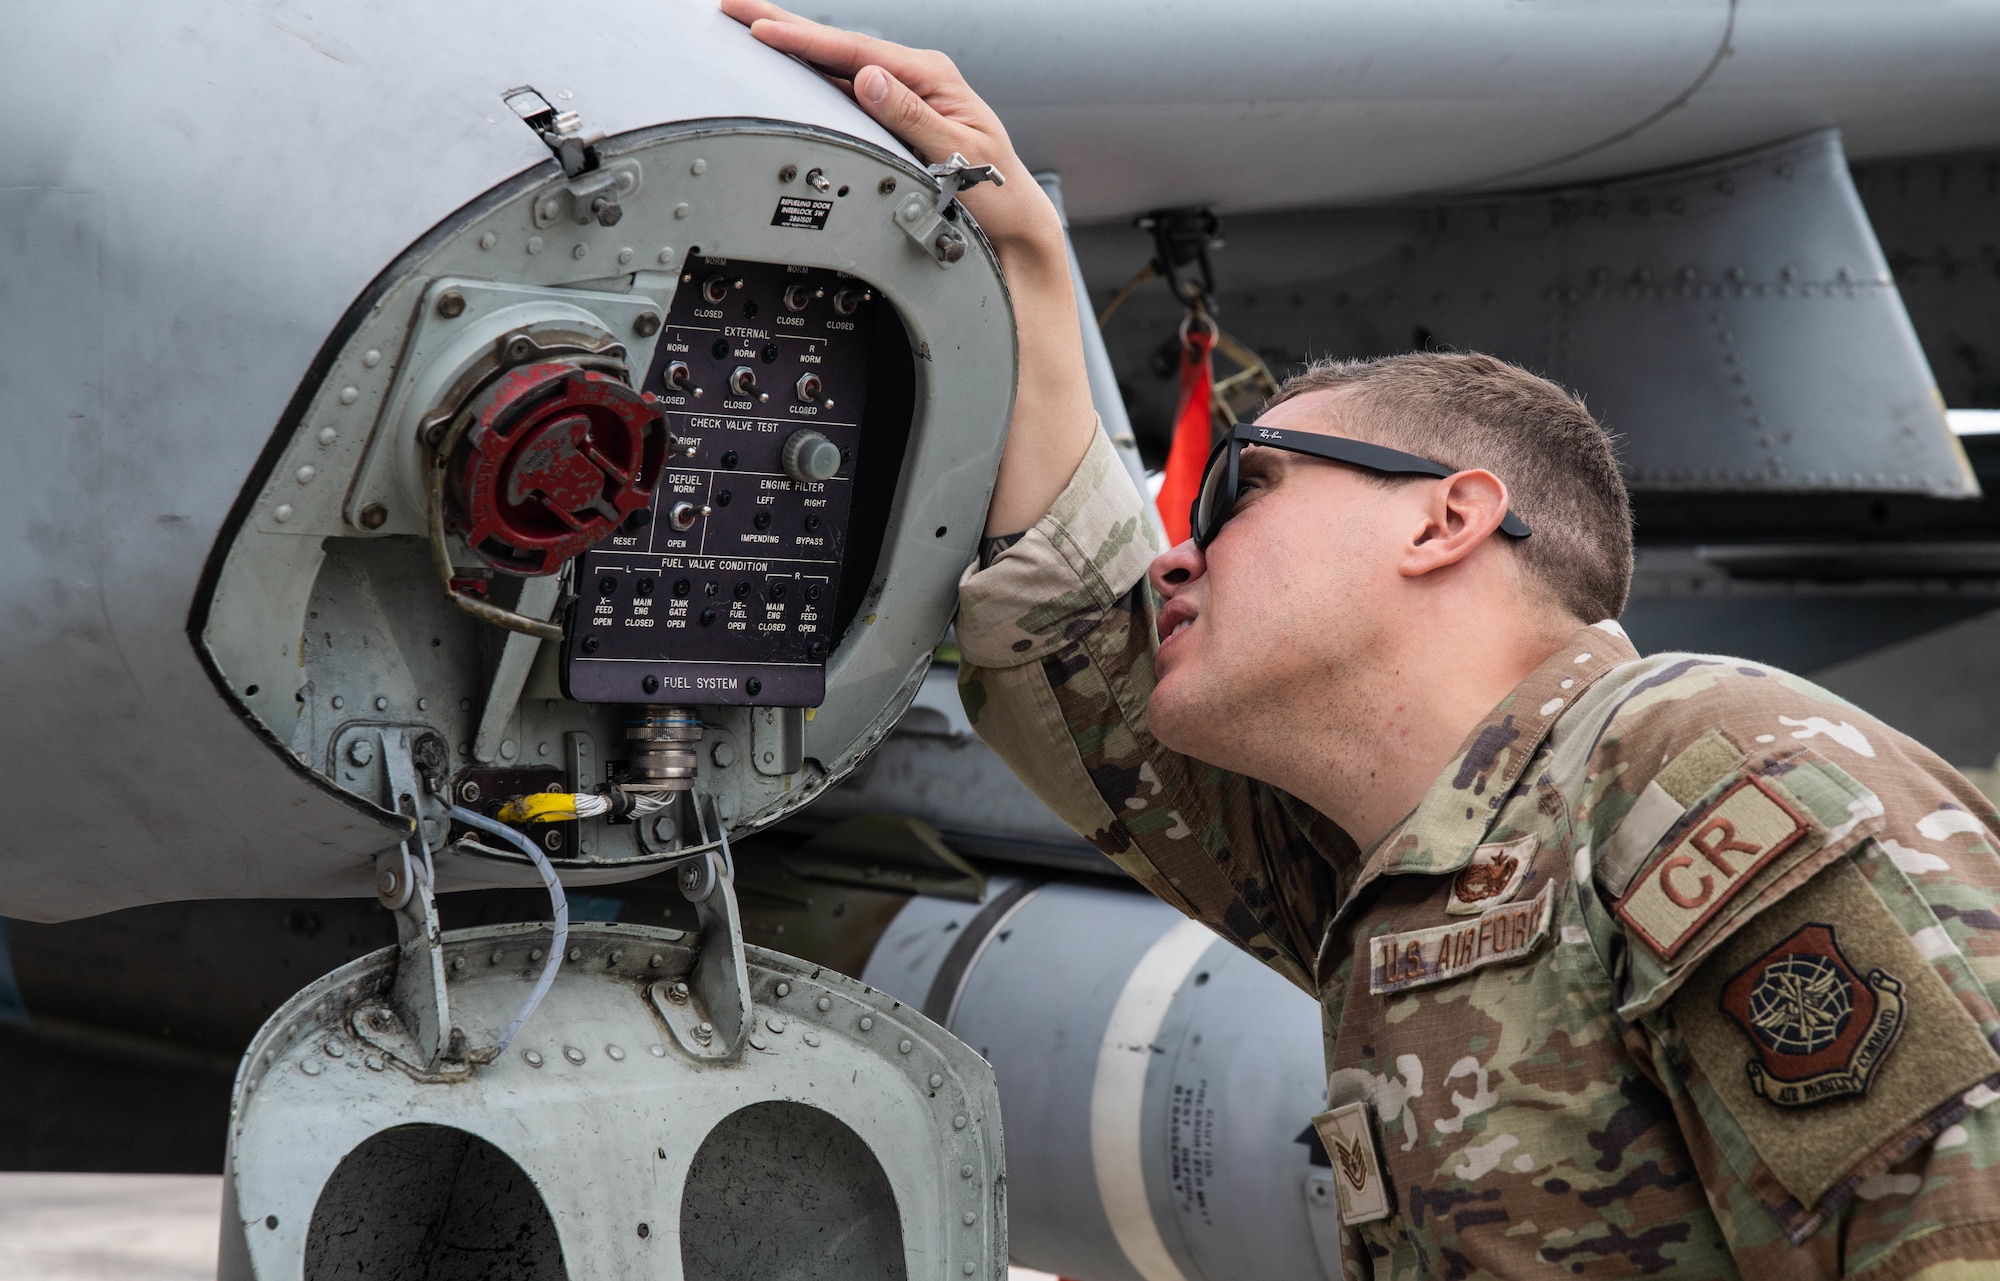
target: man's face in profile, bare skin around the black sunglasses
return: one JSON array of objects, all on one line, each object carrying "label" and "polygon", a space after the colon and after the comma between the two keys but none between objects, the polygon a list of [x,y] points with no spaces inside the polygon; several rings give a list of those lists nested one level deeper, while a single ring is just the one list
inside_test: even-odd
[{"label": "man's face in profile, bare skin around the black sunglasses", "polygon": [[[1342,400],[1312,392],[1258,422],[1358,436],[1342,430]],[[1288,707],[1288,691],[1324,697],[1358,657],[1380,661],[1402,584],[1396,552],[1420,528],[1422,506],[1420,486],[1362,476],[1246,446],[1236,510],[1208,550],[1184,542],[1154,560],[1154,588],[1168,600],[1146,721],[1160,743],[1230,767],[1240,749],[1268,751],[1272,733],[1310,733],[1332,711]]]}]

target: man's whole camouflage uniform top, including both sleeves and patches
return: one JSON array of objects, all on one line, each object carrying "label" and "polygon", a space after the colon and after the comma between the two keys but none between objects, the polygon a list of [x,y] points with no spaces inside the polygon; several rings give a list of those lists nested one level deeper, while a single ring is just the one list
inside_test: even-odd
[{"label": "man's whole camouflage uniform top, including both sleeves and patches", "polygon": [[2000,1259],[2000,815],[1786,673],[1580,628],[1372,849],[1146,733],[1100,440],[960,582],[980,737],[1324,1009],[1354,1277],[1932,1277]]}]

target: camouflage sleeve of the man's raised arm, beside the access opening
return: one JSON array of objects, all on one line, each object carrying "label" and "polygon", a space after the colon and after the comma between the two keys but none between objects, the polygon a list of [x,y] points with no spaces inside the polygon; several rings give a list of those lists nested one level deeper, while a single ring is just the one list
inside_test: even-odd
[{"label": "camouflage sleeve of the man's raised arm, beside the access opening", "polygon": [[1158,552],[1098,432],[1076,476],[958,584],[972,727],[1072,829],[1162,901],[1318,995],[1312,957],[1354,867],[1302,803],[1160,747],[1146,731]]}]

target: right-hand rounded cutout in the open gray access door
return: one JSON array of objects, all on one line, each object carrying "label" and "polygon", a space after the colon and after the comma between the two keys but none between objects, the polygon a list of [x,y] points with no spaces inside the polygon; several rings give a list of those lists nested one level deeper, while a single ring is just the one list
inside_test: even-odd
[{"label": "right-hand rounded cutout in the open gray access door", "polygon": [[708,1131],[680,1199],[686,1281],[904,1281],[896,1193],[874,1153],[804,1103],[752,1103]]}]

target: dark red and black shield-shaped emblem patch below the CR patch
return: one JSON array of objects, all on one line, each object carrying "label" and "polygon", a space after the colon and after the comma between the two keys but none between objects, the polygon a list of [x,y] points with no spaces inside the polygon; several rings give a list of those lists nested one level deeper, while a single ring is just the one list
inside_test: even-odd
[{"label": "dark red and black shield-shaped emblem patch below the CR patch", "polygon": [[1802,925],[1722,989],[1722,1011],[1756,1049],[1750,1089],[1778,1107],[1868,1093],[1902,1033],[1902,983],[1848,965],[1834,927]]}]

